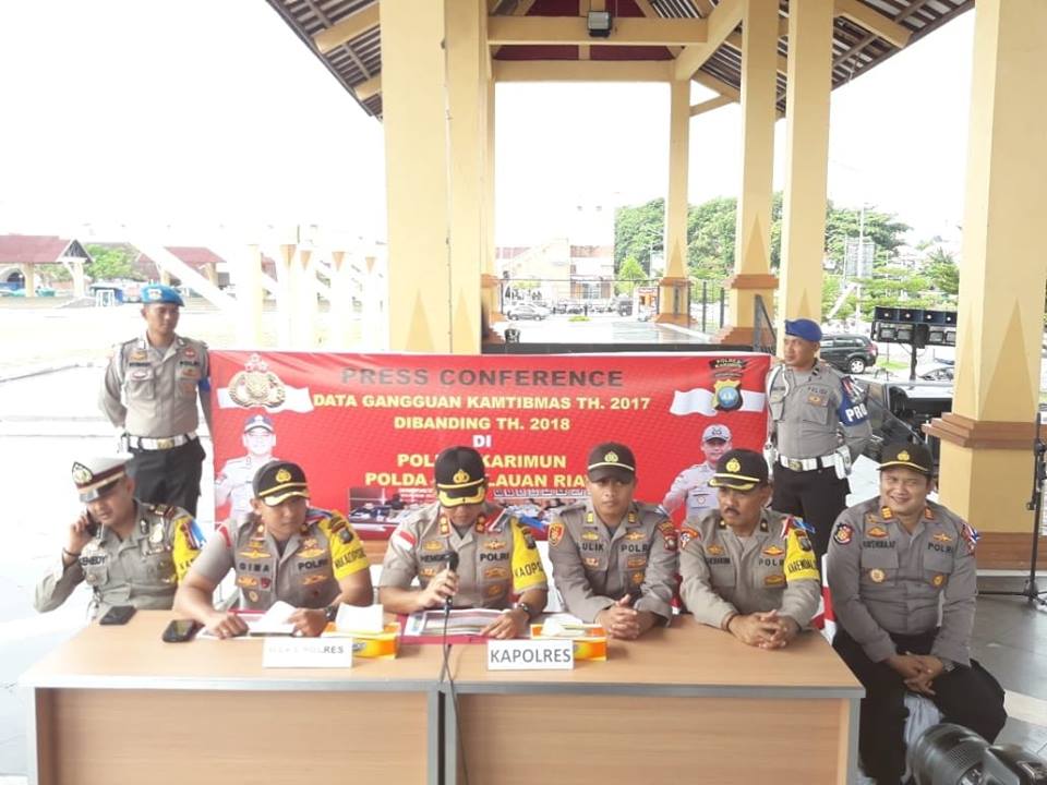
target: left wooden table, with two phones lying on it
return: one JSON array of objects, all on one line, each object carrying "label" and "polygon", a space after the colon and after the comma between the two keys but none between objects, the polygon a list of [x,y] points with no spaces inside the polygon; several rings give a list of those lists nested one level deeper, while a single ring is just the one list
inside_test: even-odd
[{"label": "left wooden table, with two phones lying on it", "polygon": [[440,647],[263,668],[262,640],[164,643],[173,617],[92,624],[25,674],[31,783],[438,782]]}]

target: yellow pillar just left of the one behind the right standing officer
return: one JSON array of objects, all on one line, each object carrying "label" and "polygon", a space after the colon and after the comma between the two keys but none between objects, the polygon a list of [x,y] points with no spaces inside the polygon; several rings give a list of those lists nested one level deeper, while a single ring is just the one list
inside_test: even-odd
[{"label": "yellow pillar just left of the one behind the right standing officer", "polygon": [[778,71],[778,4],[743,0],[742,190],[735,230],[734,275],[727,279],[731,324],[721,343],[751,343],[756,295],[772,310],[778,279],[771,275],[771,180]]}]

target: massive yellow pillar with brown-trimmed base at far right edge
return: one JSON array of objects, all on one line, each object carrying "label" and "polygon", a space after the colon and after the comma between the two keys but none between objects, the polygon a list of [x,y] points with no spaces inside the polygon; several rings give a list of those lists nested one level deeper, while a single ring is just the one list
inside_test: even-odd
[{"label": "massive yellow pillar with brown-trimmed base at far right edge", "polygon": [[1047,281],[1044,62],[1047,3],[978,0],[955,392],[952,413],[925,430],[941,439],[942,502],[982,531],[983,568],[1027,568],[1032,541],[1025,500]]}]

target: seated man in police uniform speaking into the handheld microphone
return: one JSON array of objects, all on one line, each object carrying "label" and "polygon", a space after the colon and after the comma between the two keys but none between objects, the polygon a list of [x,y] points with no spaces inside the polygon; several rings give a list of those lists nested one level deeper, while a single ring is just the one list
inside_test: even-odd
[{"label": "seated man in police uniform speaking into the handheld microphone", "polygon": [[[486,472],[474,449],[448,447],[436,457],[434,474],[437,500],[409,514],[389,538],[378,580],[382,604],[402,614],[442,607],[448,599],[455,607],[508,608],[483,635],[519,637],[545,608],[547,593],[530,530],[485,502]],[[410,588],[414,578],[421,588]]]}]

